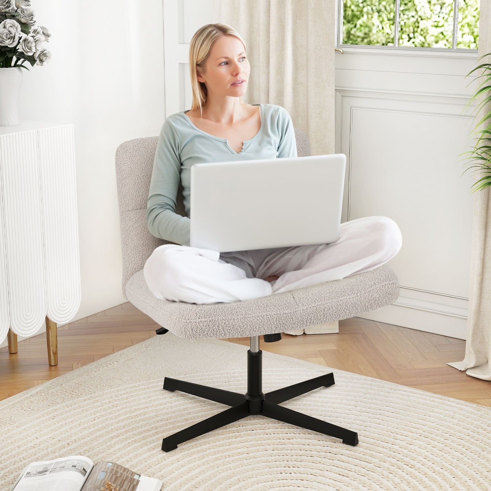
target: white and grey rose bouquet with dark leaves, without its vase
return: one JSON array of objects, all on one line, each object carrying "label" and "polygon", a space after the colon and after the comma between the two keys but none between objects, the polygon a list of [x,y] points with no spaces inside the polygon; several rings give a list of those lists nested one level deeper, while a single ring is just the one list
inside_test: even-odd
[{"label": "white and grey rose bouquet with dark leaves, without its vase", "polygon": [[[0,0],[0,68],[46,65],[51,53],[43,48],[51,34],[43,26],[34,28],[30,0]],[[15,58],[15,60],[14,60]]]}]

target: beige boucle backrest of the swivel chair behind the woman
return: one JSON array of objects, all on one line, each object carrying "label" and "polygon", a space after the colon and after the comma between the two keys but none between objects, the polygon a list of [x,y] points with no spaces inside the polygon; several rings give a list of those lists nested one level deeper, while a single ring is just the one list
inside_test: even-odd
[{"label": "beige boucle backrest of the swivel chair behind the woman", "polygon": [[[307,136],[295,129],[297,155],[310,155]],[[124,141],[116,149],[116,184],[119,202],[119,224],[123,255],[123,295],[126,282],[143,269],[153,250],[163,244],[174,244],[154,237],[147,228],[147,198],[152,178],[153,162],[158,136],[147,136]],[[176,197],[176,213],[186,217],[183,187]]]}]

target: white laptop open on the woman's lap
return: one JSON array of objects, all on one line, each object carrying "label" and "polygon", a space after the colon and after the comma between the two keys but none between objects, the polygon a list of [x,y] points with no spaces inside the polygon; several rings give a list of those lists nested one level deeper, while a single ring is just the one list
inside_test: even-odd
[{"label": "white laptop open on the woman's lap", "polygon": [[346,155],[191,166],[190,246],[218,252],[339,239]]}]

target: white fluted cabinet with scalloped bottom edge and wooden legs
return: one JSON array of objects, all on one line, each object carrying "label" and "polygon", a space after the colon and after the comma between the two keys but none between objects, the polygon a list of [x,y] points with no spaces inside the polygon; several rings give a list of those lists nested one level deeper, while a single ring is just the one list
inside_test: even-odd
[{"label": "white fluted cabinet with scalloped bottom edge and wooden legs", "polygon": [[81,301],[73,124],[0,126],[0,341],[46,324],[57,364],[56,323]]}]

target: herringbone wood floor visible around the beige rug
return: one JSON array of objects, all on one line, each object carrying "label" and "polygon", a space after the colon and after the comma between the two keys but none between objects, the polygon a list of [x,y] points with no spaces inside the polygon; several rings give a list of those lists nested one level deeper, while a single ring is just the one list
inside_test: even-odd
[{"label": "herringbone wood floor visible around the beige rug", "polygon": [[[92,361],[155,336],[160,327],[131,303],[58,327],[58,365],[50,367],[46,335],[0,350],[0,399],[76,370]],[[262,336],[261,336],[262,339]],[[249,344],[249,338],[225,339]],[[302,334],[263,351],[388,380],[491,407],[491,382],[447,365],[464,358],[465,341],[358,317],[339,322],[339,334]]]}]

